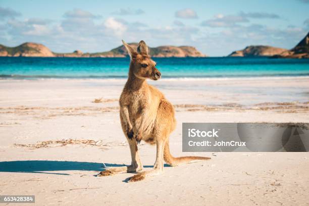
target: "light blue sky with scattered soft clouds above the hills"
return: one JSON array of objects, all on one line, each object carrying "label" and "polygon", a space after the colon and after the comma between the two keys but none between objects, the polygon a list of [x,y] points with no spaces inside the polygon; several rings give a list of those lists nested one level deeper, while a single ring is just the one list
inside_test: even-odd
[{"label": "light blue sky with scattered soft clouds above the hills", "polygon": [[292,48],[309,31],[309,0],[4,1],[0,43],[102,52],[141,39],[226,56],[247,45]]}]

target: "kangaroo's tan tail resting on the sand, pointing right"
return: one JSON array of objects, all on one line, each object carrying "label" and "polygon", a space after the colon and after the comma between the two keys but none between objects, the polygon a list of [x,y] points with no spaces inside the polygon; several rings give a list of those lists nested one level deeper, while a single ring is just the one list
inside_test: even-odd
[{"label": "kangaroo's tan tail resting on the sand, pointing right", "polygon": [[192,161],[210,160],[210,159],[211,158],[197,157],[197,156],[187,156],[187,157],[174,158],[171,155],[171,152],[170,152],[169,139],[166,141],[166,143],[164,145],[164,161],[171,166],[178,166],[178,165],[190,163]]}]

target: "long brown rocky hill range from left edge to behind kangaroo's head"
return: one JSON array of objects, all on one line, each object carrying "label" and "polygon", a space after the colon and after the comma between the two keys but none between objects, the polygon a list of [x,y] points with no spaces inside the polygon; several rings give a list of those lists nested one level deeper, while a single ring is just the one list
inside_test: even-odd
[{"label": "long brown rocky hill range from left edge to behind kangaroo's head", "polygon": [[[137,43],[129,43],[137,48]],[[192,46],[158,46],[149,47],[151,57],[205,57]],[[125,47],[119,46],[109,52],[82,53],[76,50],[73,53],[53,53],[46,46],[38,43],[23,43],[16,47],[8,47],[0,44],[0,56],[2,57],[126,57]]]}]

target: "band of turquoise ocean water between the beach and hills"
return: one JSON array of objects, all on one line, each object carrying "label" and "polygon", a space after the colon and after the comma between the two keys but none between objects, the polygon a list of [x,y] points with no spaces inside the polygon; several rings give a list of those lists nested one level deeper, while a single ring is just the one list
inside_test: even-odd
[{"label": "band of turquoise ocean water between the beach and hills", "polygon": [[[163,79],[309,76],[309,59],[153,58]],[[1,79],[127,78],[129,58],[0,57]]]}]

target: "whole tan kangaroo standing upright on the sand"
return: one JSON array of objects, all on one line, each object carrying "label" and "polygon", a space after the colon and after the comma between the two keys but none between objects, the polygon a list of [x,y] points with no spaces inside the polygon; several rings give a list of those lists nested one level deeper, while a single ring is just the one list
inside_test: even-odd
[{"label": "whole tan kangaroo standing upright on the sand", "polygon": [[[146,81],[160,79],[161,73],[156,68],[156,62],[148,56],[148,47],[144,41],[139,42],[137,51],[125,41],[122,42],[130,56],[130,68],[119,99],[120,121],[130,146],[132,162],[129,166],[102,171],[98,176],[138,172],[128,179],[128,182],[136,182],[163,173],[164,161],[171,166],[178,166],[196,160],[209,160],[207,157],[175,158],[171,155],[169,136],[176,127],[173,105],[162,92]],[[153,170],[142,171],[137,147],[141,140],[157,145]]]}]

